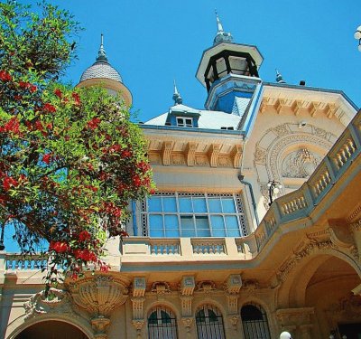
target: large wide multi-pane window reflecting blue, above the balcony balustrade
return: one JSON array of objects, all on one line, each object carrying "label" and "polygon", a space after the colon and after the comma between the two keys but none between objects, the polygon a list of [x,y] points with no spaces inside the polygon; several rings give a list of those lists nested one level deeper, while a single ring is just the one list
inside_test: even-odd
[{"label": "large wide multi-pane window reflecting blue, above the balcony balustrade", "polygon": [[156,193],[142,208],[143,235],[240,237],[247,234],[238,194]]}]

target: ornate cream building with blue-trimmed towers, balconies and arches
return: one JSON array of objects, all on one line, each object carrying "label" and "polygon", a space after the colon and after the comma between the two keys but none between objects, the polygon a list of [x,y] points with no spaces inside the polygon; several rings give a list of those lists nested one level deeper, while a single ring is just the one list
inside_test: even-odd
[{"label": "ornate cream building with blue-trimmed towers, balconies and arches", "polygon": [[[205,109],[174,86],[141,125],[157,193],[130,203],[111,271],[46,298],[44,259],[0,252],[0,337],[359,338],[361,115],[341,91],[264,82],[262,61],[218,20]],[[78,86],[99,82],[131,104],[103,42]]]}]

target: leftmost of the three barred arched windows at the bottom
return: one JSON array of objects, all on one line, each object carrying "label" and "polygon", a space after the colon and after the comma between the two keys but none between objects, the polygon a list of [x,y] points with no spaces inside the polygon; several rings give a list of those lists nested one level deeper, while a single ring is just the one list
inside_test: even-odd
[{"label": "leftmost of the three barred arched windows at the bottom", "polygon": [[177,320],[171,310],[157,306],[148,317],[149,339],[177,339]]}]

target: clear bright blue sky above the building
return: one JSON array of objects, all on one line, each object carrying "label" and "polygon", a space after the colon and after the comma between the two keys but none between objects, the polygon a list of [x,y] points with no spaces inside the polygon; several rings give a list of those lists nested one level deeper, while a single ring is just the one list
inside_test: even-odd
[{"label": "clear bright blue sky above the building", "polygon": [[[21,1],[34,3],[35,1]],[[146,121],[171,107],[173,79],[183,103],[203,108],[207,91],[195,78],[200,57],[217,32],[214,10],[234,42],[255,44],[264,56],[260,76],[277,68],[290,84],[344,90],[361,106],[361,52],[353,35],[360,0],[57,0],[85,30],[79,60],[65,81],[78,83],[97,56],[100,33],[111,64],[132,91],[134,111]],[[10,246],[6,237],[6,250]]]}]

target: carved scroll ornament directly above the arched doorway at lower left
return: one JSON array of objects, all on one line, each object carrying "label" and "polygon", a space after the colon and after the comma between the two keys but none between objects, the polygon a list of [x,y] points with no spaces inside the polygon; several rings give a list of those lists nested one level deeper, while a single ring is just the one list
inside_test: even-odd
[{"label": "carved scroll ornament directly above the arched doorway at lower left", "polygon": [[74,314],[69,293],[57,288],[51,288],[48,297],[45,297],[45,291],[35,294],[23,306],[26,314],[25,319],[50,313],[79,316]]}]

